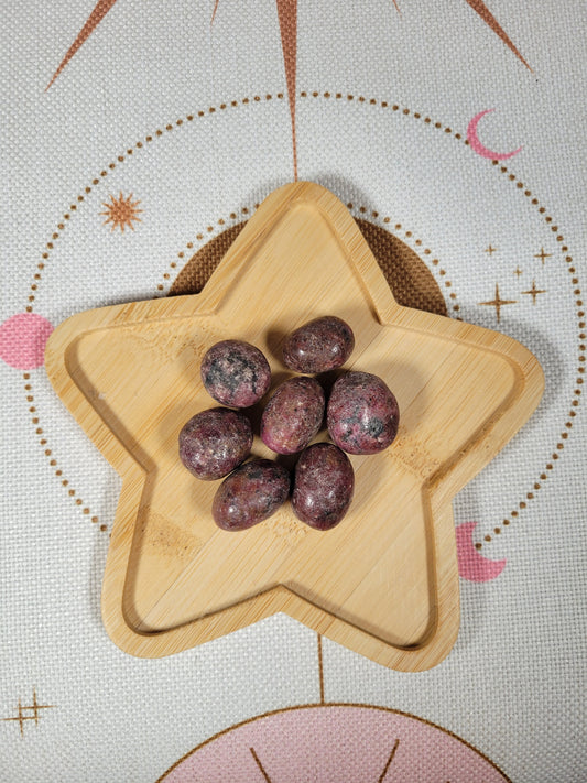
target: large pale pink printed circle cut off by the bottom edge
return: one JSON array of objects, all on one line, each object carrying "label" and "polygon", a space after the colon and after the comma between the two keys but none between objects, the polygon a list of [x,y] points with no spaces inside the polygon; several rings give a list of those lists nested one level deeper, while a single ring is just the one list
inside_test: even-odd
[{"label": "large pale pink printed circle cut off by the bottom edge", "polygon": [[[384,707],[307,705],[235,726],[195,748],[165,783],[504,783],[471,746]],[[157,782],[159,783],[159,782]]]}]

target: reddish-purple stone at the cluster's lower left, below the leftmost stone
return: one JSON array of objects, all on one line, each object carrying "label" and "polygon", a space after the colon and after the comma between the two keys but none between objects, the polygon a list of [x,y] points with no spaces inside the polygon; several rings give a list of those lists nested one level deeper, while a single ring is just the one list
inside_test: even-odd
[{"label": "reddish-purple stone at the cluster's lower left, below the leftmost stone", "polygon": [[211,507],[214,521],[222,530],[247,530],[271,516],[289,494],[286,468],[270,459],[253,459],[219,486]]}]

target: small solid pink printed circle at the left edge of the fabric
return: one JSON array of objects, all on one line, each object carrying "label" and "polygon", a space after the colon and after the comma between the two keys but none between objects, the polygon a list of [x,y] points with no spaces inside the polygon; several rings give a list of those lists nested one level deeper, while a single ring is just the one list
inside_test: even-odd
[{"label": "small solid pink printed circle at the left edge of the fabric", "polygon": [[18,370],[41,367],[53,326],[42,315],[18,313],[0,325],[0,359]]}]

